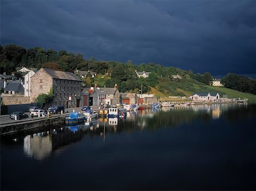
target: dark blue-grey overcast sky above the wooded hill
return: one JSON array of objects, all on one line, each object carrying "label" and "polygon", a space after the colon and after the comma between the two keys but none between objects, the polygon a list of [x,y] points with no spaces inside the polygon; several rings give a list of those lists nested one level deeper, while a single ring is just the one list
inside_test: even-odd
[{"label": "dark blue-grey overcast sky above the wooded hill", "polygon": [[255,2],[1,0],[1,45],[194,73],[255,74]]}]

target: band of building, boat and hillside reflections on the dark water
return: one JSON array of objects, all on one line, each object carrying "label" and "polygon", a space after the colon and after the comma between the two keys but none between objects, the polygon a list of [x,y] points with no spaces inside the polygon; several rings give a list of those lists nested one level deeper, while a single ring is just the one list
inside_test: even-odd
[{"label": "band of building, boat and hillside reflections on the dark water", "polygon": [[[231,107],[231,108],[230,108]],[[198,119],[217,120],[232,107],[247,107],[247,105],[205,104],[189,107],[171,107],[163,109],[146,109],[127,113],[126,118],[99,118],[77,126],[50,129],[41,133],[27,135],[23,139],[24,154],[38,160],[46,159],[53,152],[64,150],[71,143],[81,141],[85,135],[106,139],[107,133],[134,130],[155,130],[189,123]],[[228,118],[229,115],[225,114]]]}]

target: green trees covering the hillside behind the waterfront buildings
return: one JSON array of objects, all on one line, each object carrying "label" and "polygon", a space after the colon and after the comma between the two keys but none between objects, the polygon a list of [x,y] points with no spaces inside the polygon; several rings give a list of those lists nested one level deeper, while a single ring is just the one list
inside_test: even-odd
[{"label": "green trees covering the hillside behind the waterfront buildings", "polygon": [[[104,82],[101,86],[114,87],[118,84],[121,92],[136,92],[141,90],[146,93],[154,88],[163,95],[184,96],[182,90],[193,91],[193,84],[210,83],[212,75],[208,72],[204,74],[194,74],[192,70],[181,70],[175,67],[165,67],[156,63],[133,64],[132,61],[126,63],[118,61],[96,61],[94,57],[88,60],[82,54],[69,53],[66,50],[56,52],[53,49],[45,50],[41,47],[25,49],[19,45],[0,45],[1,51],[1,72],[7,74],[15,71],[16,67],[28,67],[40,69],[46,67],[49,69],[74,72],[75,70],[94,71],[97,74],[104,75]],[[138,78],[135,70],[151,72],[148,78]],[[179,74],[181,79],[174,79],[172,75]],[[83,79],[83,86],[90,87],[98,82],[98,78],[92,78],[87,75]],[[101,79],[102,80],[102,79]],[[226,87],[234,90],[255,92],[255,80],[245,77],[239,77],[236,74],[228,74],[222,79]]]}]

